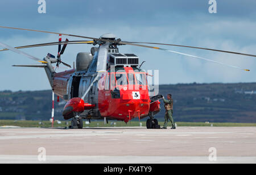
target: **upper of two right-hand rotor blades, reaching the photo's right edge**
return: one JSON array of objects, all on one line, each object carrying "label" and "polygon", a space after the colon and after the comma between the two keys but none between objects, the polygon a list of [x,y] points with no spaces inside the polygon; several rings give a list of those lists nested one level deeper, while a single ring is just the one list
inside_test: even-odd
[{"label": "upper of two right-hand rotor blades, reaching the photo's right edge", "polygon": [[147,42],[127,42],[127,43],[171,45],[171,46],[175,46],[175,47],[187,47],[187,48],[194,48],[194,49],[204,49],[204,50],[208,50],[208,51],[224,52],[224,53],[232,53],[232,54],[237,54],[237,55],[245,55],[245,56],[256,57],[256,55],[251,55],[251,54],[247,54],[247,53],[232,52],[232,51],[223,51],[223,50],[210,49],[210,48],[204,48],[204,47],[193,47],[193,46],[188,46],[188,45],[164,44],[164,43],[147,43]]}]

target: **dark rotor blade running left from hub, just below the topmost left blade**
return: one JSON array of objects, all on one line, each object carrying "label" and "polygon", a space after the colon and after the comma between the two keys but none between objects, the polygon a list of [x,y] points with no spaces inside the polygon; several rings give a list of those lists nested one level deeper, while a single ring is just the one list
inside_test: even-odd
[{"label": "dark rotor blade running left from hub, just below the topmost left blade", "polygon": [[[20,47],[15,47],[15,49],[23,49],[23,48],[32,48],[32,47],[43,47],[43,46],[49,46],[49,45],[59,45],[59,44],[92,44],[93,41],[83,41],[83,40],[77,40],[77,41],[62,41],[62,42],[52,42],[52,43],[42,43],[42,44],[33,44],[33,45],[24,45]],[[1,51],[8,51],[9,49],[0,49]]]}]

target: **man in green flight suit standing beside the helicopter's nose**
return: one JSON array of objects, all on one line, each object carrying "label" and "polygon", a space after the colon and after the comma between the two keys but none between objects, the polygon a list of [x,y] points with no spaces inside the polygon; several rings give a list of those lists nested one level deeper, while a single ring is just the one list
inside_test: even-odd
[{"label": "man in green flight suit standing beside the helicopter's nose", "polygon": [[166,114],[164,115],[164,126],[162,127],[162,129],[167,129],[168,120],[170,120],[172,123],[171,129],[176,129],[174,119],[172,118],[172,113],[174,110],[174,108],[173,108],[174,101],[172,100],[172,94],[168,94],[167,99],[168,100],[163,98],[164,108],[166,109]]}]

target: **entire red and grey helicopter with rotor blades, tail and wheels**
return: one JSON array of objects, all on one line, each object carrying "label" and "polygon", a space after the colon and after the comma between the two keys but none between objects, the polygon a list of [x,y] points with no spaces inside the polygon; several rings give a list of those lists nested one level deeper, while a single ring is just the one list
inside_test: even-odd
[{"label": "entire red and grey helicopter with rotor blades, tail and wheels", "polygon": [[[247,53],[192,47],[188,45],[122,41],[110,33],[101,35],[100,38],[92,38],[26,28],[5,26],[0,26],[0,28],[59,35],[58,42],[24,45],[15,48],[0,42],[0,46],[4,48],[0,52],[10,50],[40,62],[39,64],[13,66],[44,68],[53,92],[67,102],[63,109],[63,117],[65,120],[72,119],[70,128],[82,128],[83,119],[87,119],[89,122],[92,119],[104,119],[105,123],[108,123],[108,120],[121,120],[127,123],[134,118],[139,118],[140,120],[146,117],[149,117],[146,122],[148,129],[160,128],[158,120],[154,116],[160,111],[160,99],[163,98],[163,95],[152,95],[150,93],[151,89],[147,80],[148,76],[151,75],[141,69],[144,61],[139,65],[139,57],[134,53],[120,53],[119,46],[121,45],[158,49],[160,51],[172,52],[194,59],[230,66],[247,72],[250,70],[151,45],[169,45],[256,57],[256,55]],[[61,36],[63,35],[90,40],[69,41],[66,39],[65,41],[61,41]],[[77,53],[76,68],[74,66],[73,69],[71,65],[61,60],[61,55],[63,55],[68,44],[93,45],[90,52]],[[43,47],[47,45],[58,45],[57,56],[48,53],[42,60],[19,50],[22,48]],[[62,48],[61,45],[63,45]],[[98,47],[95,47],[96,45]],[[56,73],[56,68],[54,69],[52,64],[56,64],[56,68],[60,64],[63,64],[71,69]]]}]

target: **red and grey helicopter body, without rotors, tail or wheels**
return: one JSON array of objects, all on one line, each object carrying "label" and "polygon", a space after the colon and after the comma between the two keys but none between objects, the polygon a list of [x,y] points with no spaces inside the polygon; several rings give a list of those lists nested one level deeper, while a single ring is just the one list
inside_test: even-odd
[{"label": "red and grey helicopter body, without rotors, tail or wheels", "polygon": [[[109,55],[108,62],[113,61],[111,54]],[[129,56],[134,57],[135,55]],[[117,58],[115,60],[120,64],[127,63],[127,61]],[[137,60],[128,62],[138,64]],[[90,69],[92,68],[78,72],[76,69],[72,69],[54,74],[53,91],[68,101],[64,111],[68,111],[68,106],[72,106],[71,109],[75,109],[76,105],[79,106],[77,98],[82,97],[94,79],[95,72],[90,72]],[[160,110],[159,101],[152,104],[150,102],[146,72],[131,65],[115,65],[114,70],[109,66],[99,80],[94,82],[89,93],[83,99],[83,103],[92,107],[85,107],[79,116],[84,119],[107,118],[128,122],[133,118],[143,119],[150,112]],[[75,113],[68,113],[68,115],[64,115],[64,119],[73,118],[75,115]]]}]

